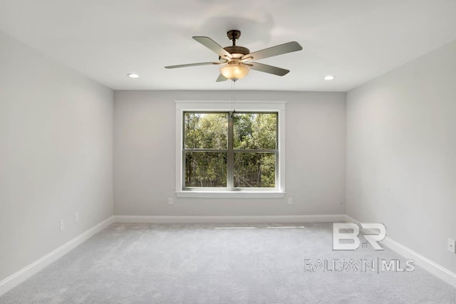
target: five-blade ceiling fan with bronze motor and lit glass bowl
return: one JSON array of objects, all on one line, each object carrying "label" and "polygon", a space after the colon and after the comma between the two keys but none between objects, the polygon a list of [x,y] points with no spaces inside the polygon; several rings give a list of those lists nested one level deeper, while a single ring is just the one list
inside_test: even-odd
[{"label": "five-blade ceiling fan with bronze motor and lit glass bowl", "polygon": [[302,46],[296,41],[280,44],[279,46],[272,46],[271,48],[264,48],[263,50],[250,53],[248,48],[244,46],[237,46],[236,41],[241,36],[241,31],[231,30],[227,32],[229,40],[232,41],[232,46],[222,48],[217,42],[205,36],[193,36],[196,41],[209,50],[217,53],[219,61],[216,62],[203,62],[203,63],[189,63],[181,65],[168,65],[165,68],[185,68],[187,66],[195,65],[222,65],[220,68],[220,75],[217,82],[225,80],[239,80],[244,78],[250,71],[258,70],[260,72],[283,76],[289,73],[289,70],[284,68],[277,68],[276,66],[257,63],[259,59],[277,56],[285,53],[301,51]]}]

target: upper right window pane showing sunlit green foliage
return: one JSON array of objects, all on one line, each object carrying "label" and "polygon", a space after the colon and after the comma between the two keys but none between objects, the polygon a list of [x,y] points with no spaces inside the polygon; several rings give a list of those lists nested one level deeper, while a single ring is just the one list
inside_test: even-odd
[{"label": "upper right window pane showing sunlit green foliage", "polygon": [[234,149],[276,149],[277,113],[235,113]]}]

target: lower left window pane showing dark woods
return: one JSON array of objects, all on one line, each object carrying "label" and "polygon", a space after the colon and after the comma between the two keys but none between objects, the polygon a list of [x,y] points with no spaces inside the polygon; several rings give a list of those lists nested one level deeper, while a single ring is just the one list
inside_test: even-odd
[{"label": "lower left window pane showing dark woods", "polygon": [[227,187],[227,153],[186,152],[185,187]]}]

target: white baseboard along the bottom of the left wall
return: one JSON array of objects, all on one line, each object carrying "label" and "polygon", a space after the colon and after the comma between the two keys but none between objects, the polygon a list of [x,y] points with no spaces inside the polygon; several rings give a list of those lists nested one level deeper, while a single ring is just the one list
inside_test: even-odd
[{"label": "white baseboard along the bottom of the left wall", "polygon": [[22,268],[20,271],[0,281],[0,295],[3,295],[6,293],[6,291],[26,281],[26,279],[30,278],[35,273],[38,273],[38,271],[41,271],[43,268],[53,263],[54,261],[57,261],[62,256],[66,255],[66,253],[72,251],[74,248],[81,245],[81,243],[87,241],[92,236],[98,234],[98,232],[102,231],[113,223],[113,216],[110,216],[110,218],[105,219],[105,221],[102,221],[100,224],[97,224],[82,234],[76,236],[76,238],[72,239],[71,241],[64,243],[62,246],[46,254],[46,256],[39,258],[25,268]]}]

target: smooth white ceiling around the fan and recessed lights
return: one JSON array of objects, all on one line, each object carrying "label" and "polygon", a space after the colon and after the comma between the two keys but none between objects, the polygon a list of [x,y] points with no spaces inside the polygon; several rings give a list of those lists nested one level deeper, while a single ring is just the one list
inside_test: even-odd
[{"label": "smooth white ceiling around the fan and recessed lights", "polygon": [[259,61],[291,72],[252,70],[237,90],[345,92],[455,40],[455,16],[456,0],[0,0],[0,31],[115,90],[229,89],[215,65],[163,67],[217,61],[192,36],[229,46],[239,29],[250,51],[304,51]]}]

